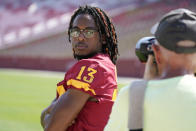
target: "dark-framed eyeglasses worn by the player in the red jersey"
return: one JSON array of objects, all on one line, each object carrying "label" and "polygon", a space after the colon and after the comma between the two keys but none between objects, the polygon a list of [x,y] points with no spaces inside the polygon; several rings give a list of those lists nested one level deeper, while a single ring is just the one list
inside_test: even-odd
[{"label": "dark-framed eyeglasses worn by the player in the red jersey", "polygon": [[80,33],[84,35],[85,38],[92,38],[98,30],[95,28],[85,28],[85,29],[79,29],[79,28],[72,28],[70,29],[70,36],[71,37],[79,37]]}]

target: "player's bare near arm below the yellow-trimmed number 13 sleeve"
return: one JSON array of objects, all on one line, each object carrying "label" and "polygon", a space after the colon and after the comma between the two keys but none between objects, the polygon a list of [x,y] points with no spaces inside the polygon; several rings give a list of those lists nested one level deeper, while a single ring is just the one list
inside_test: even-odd
[{"label": "player's bare near arm below the yellow-trimmed number 13 sleeve", "polygon": [[79,90],[69,89],[55,104],[51,111],[45,131],[65,131],[81,111],[89,94]]}]

